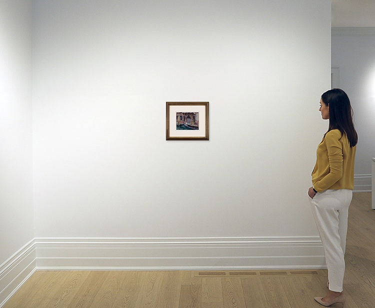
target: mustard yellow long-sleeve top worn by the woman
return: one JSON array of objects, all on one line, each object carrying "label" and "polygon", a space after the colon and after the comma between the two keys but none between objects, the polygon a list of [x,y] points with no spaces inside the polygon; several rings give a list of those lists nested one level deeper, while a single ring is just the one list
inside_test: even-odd
[{"label": "mustard yellow long-sleeve top worn by the woman", "polygon": [[356,146],[351,147],[346,135],[338,129],[325,134],[316,150],[312,185],[317,192],[326,189],[354,188],[354,159]]}]

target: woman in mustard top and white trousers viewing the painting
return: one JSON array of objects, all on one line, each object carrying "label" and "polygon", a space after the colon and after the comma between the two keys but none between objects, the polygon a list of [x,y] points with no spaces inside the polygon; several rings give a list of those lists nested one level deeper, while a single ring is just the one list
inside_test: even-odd
[{"label": "woman in mustard top and white trousers viewing the painting", "polygon": [[308,189],[308,195],[324,247],[329,292],[324,297],[315,297],[315,300],[323,306],[336,302],[344,306],[342,281],[347,216],[354,188],[358,137],[352,121],[350,101],[344,91],[332,89],[323,93],[319,111],[324,120],[329,120],[329,125],[317,147],[312,171],[313,186]]}]

